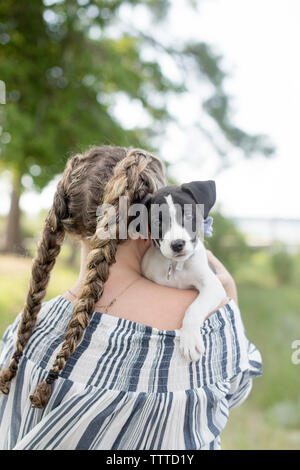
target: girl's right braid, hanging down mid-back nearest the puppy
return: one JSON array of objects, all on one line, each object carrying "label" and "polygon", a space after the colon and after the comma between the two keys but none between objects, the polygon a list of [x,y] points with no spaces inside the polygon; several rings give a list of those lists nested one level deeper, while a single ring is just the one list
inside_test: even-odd
[{"label": "girl's right braid, hanging down mid-back nearest the puppy", "polygon": [[[103,204],[110,204],[118,215],[119,197],[127,196],[127,204],[142,199],[147,193],[154,192],[159,184],[157,174],[150,169],[150,163],[156,160],[163,171],[161,162],[156,157],[139,149],[131,149],[125,158],[114,168],[113,176],[105,187]],[[33,395],[30,396],[32,406],[43,408],[51,395],[51,384],[65,367],[69,357],[75,352],[84,330],[88,327],[94,312],[95,303],[103,293],[104,284],[109,276],[109,267],[116,261],[119,240],[116,222],[116,238],[109,235],[99,238],[99,232],[108,223],[102,217],[97,230],[91,238],[91,251],[87,259],[87,275],[82,292],[75,304],[73,316],[65,334],[64,343],[56,356],[53,367],[45,381],[41,382]]]}]

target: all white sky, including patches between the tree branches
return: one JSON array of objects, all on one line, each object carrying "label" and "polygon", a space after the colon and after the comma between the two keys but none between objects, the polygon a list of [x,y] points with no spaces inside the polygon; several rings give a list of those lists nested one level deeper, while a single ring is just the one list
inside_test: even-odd
[{"label": "all white sky, including patches between the tree branches", "polygon": [[[226,89],[235,97],[236,124],[248,132],[268,134],[277,152],[272,159],[245,160],[233,151],[234,165],[216,174],[215,154],[189,130],[200,115],[199,90],[194,84],[195,94],[170,104],[180,115],[180,126],[169,127],[160,156],[173,162],[172,174],[180,183],[214,178],[218,203],[227,215],[300,218],[299,0],[202,0],[198,15],[186,0],[172,5],[168,30],[162,36],[191,37],[215,46],[231,75]],[[142,24],[142,10],[137,14]],[[165,66],[172,74],[171,64]],[[134,125],[135,114],[128,116],[126,100],[120,99],[115,110],[120,119],[125,110],[127,123]],[[2,178],[1,213],[8,209],[8,189]],[[29,212],[49,207],[52,194],[53,186],[39,197],[28,193],[21,207]]]}]

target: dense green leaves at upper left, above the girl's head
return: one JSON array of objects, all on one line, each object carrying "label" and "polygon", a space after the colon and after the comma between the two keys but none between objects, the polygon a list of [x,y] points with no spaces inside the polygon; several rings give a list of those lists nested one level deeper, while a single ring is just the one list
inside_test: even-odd
[{"label": "dense green leaves at upper left, above the girl's head", "polygon": [[[120,2],[45,4],[5,0],[0,5],[1,78],[7,88],[1,117],[10,136],[2,139],[2,162],[19,175],[30,174],[37,187],[62,170],[70,150],[147,140],[148,129],[124,130],[110,113],[115,93],[141,100],[150,115],[164,119],[165,109],[147,102],[144,85],[161,93],[177,90],[157,63],[141,60],[138,39],[89,38],[95,21],[89,15],[98,11],[97,23],[104,28]],[[92,6],[98,8],[94,13]]]}]

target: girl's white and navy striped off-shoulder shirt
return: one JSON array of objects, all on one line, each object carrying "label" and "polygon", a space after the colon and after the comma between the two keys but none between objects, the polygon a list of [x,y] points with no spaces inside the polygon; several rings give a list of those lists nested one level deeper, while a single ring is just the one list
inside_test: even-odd
[{"label": "girl's white and navy striped off-shoulder shirt", "polygon": [[[10,392],[0,394],[0,449],[220,449],[229,409],[262,373],[232,299],[204,322],[206,352],[193,363],[180,354],[177,330],[94,312],[48,404],[32,408],[29,395],[51,369],[73,308],[61,295],[43,303]],[[3,336],[1,368],[20,316]]]}]

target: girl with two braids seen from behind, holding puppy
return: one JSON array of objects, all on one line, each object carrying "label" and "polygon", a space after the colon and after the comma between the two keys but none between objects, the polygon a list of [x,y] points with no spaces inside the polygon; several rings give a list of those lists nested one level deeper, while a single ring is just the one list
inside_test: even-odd
[{"label": "girl with two braids seen from behind, holding puppy", "polygon": [[[232,277],[208,253],[228,299],[201,328],[206,354],[189,363],[177,330],[198,292],[142,276],[151,239],[97,235],[99,206],[118,211],[121,196],[133,204],[164,185],[162,162],[140,149],[95,147],[68,160],[24,309],[3,337],[1,449],[220,448],[229,409],[261,374]],[[42,303],[66,234],[81,240],[78,281]]]}]

